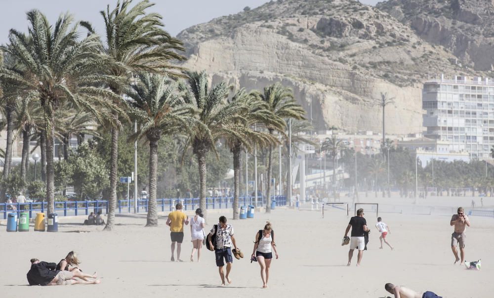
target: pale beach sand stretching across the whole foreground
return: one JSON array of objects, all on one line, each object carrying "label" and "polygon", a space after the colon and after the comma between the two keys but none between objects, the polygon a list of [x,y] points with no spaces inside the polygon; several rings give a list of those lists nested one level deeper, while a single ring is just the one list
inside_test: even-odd
[{"label": "pale beach sand stretching across the whole foreground", "polygon": [[[427,203],[448,206],[444,200],[436,198]],[[375,202],[376,199],[361,201]],[[452,203],[469,205],[470,201],[463,198]],[[485,204],[492,201],[484,199]],[[324,219],[318,211],[277,208],[271,214],[258,212],[255,219],[229,220],[245,258],[234,259],[233,283],[225,287],[219,287],[212,252],[203,248],[201,263],[189,261],[192,245],[188,226],[181,255],[185,262],[170,262],[170,236],[165,216],[160,217],[158,228],[145,228],[145,215],[119,216],[114,232],[81,226],[83,219],[65,223],[62,220],[56,233],[33,230],[7,233],[5,226],[0,226],[3,252],[0,296],[379,298],[391,296],[384,290],[384,284],[391,282],[415,291],[432,291],[445,298],[494,297],[494,218],[470,217],[472,227],[466,231],[466,259],[482,258],[482,269],[473,271],[466,270],[464,265],[453,265],[451,214],[380,213],[391,228],[388,240],[395,247],[391,251],[387,246],[379,249],[375,212],[366,211],[365,217],[372,229],[369,249],[364,252],[360,267],[355,266],[357,251],[352,265],[347,267],[348,246],[341,246],[341,239],[349,218],[342,210],[327,209]],[[231,214],[226,215],[231,217]],[[209,213],[209,229],[218,216],[218,213]],[[273,224],[280,259],[272,262],[269,289],[261,289],[259,265],[250,264],[249,256],[255,233],[266,220]],[[100,285],[26,286],[30,258],[59,262],[70,250],[78,253],[84,272],[98,272]]]}]

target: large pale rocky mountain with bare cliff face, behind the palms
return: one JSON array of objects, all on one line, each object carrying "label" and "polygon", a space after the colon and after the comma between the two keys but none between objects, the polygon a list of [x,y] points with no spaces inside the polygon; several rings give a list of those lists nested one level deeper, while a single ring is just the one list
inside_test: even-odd
[{"label": "large pale rocky mountain with bare cliff face, behind the palms", "polygon": [[382,92],[395,98],[387,132],[421,132],[423,81],[474,71],[391,13],[353,0],[277,0],[178,37],[187,47],[184,66],[247,89],[282,82],[307,111],[312,102],[317,129],[380,131],[372,99]]}]

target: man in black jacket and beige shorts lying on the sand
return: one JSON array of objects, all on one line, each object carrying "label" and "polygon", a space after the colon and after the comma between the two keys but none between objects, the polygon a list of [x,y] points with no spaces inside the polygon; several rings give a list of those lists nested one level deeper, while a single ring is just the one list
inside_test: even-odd
[{"label": "man in black jacket and beige shorts lying on the sand", "polygon": [[[82,273],[81,271],[57,270],[55,263],[40,262],[38,259],[31,259],[31,269],[26,277],[30,286],[56,286],[56,285],[75,285],[75,284],[99,284],[100,280],[96,279],[96,272],[93,275]],[[85,281],[79,278],[93,278],[92,281]]]}]

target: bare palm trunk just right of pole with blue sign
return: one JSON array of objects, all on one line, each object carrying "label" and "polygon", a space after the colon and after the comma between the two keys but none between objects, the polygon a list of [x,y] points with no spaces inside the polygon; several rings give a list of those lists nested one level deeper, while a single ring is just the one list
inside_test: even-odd
[{"label": "bare palm trunk just right of pole with blue sign", "polygon": [[158,165],[159,138],[149,137],[149,201],[146,227],[158,226],[158,212],[156,210],[156,170]]}]

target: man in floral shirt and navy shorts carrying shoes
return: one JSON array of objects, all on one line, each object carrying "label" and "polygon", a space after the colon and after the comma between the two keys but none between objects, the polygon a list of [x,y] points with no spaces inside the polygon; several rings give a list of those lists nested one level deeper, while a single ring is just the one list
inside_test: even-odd
[{"label": "man in floral shirt and navy shorts carrying shoes", "polygon": [[[226,217],[220,216],[219,223],[214,225],[211,232],[207,234],[207,241],[209,241],[209,246],[214,247],[214,255],[216,257],[216,266],[218,266],[219,276],[221,278],[221,285],[225,285],[225,280],[231,284],[230,272],[232,270],[233,256],[232,256],[232,245],[235,250],[239,251],[237,248],[237,242],[235,241],[235,236],[233,226],[226,223]],[[212,236],[215,236],[214,246],[212,243]],[[226,261],[226,275],[223,271]]]}]

